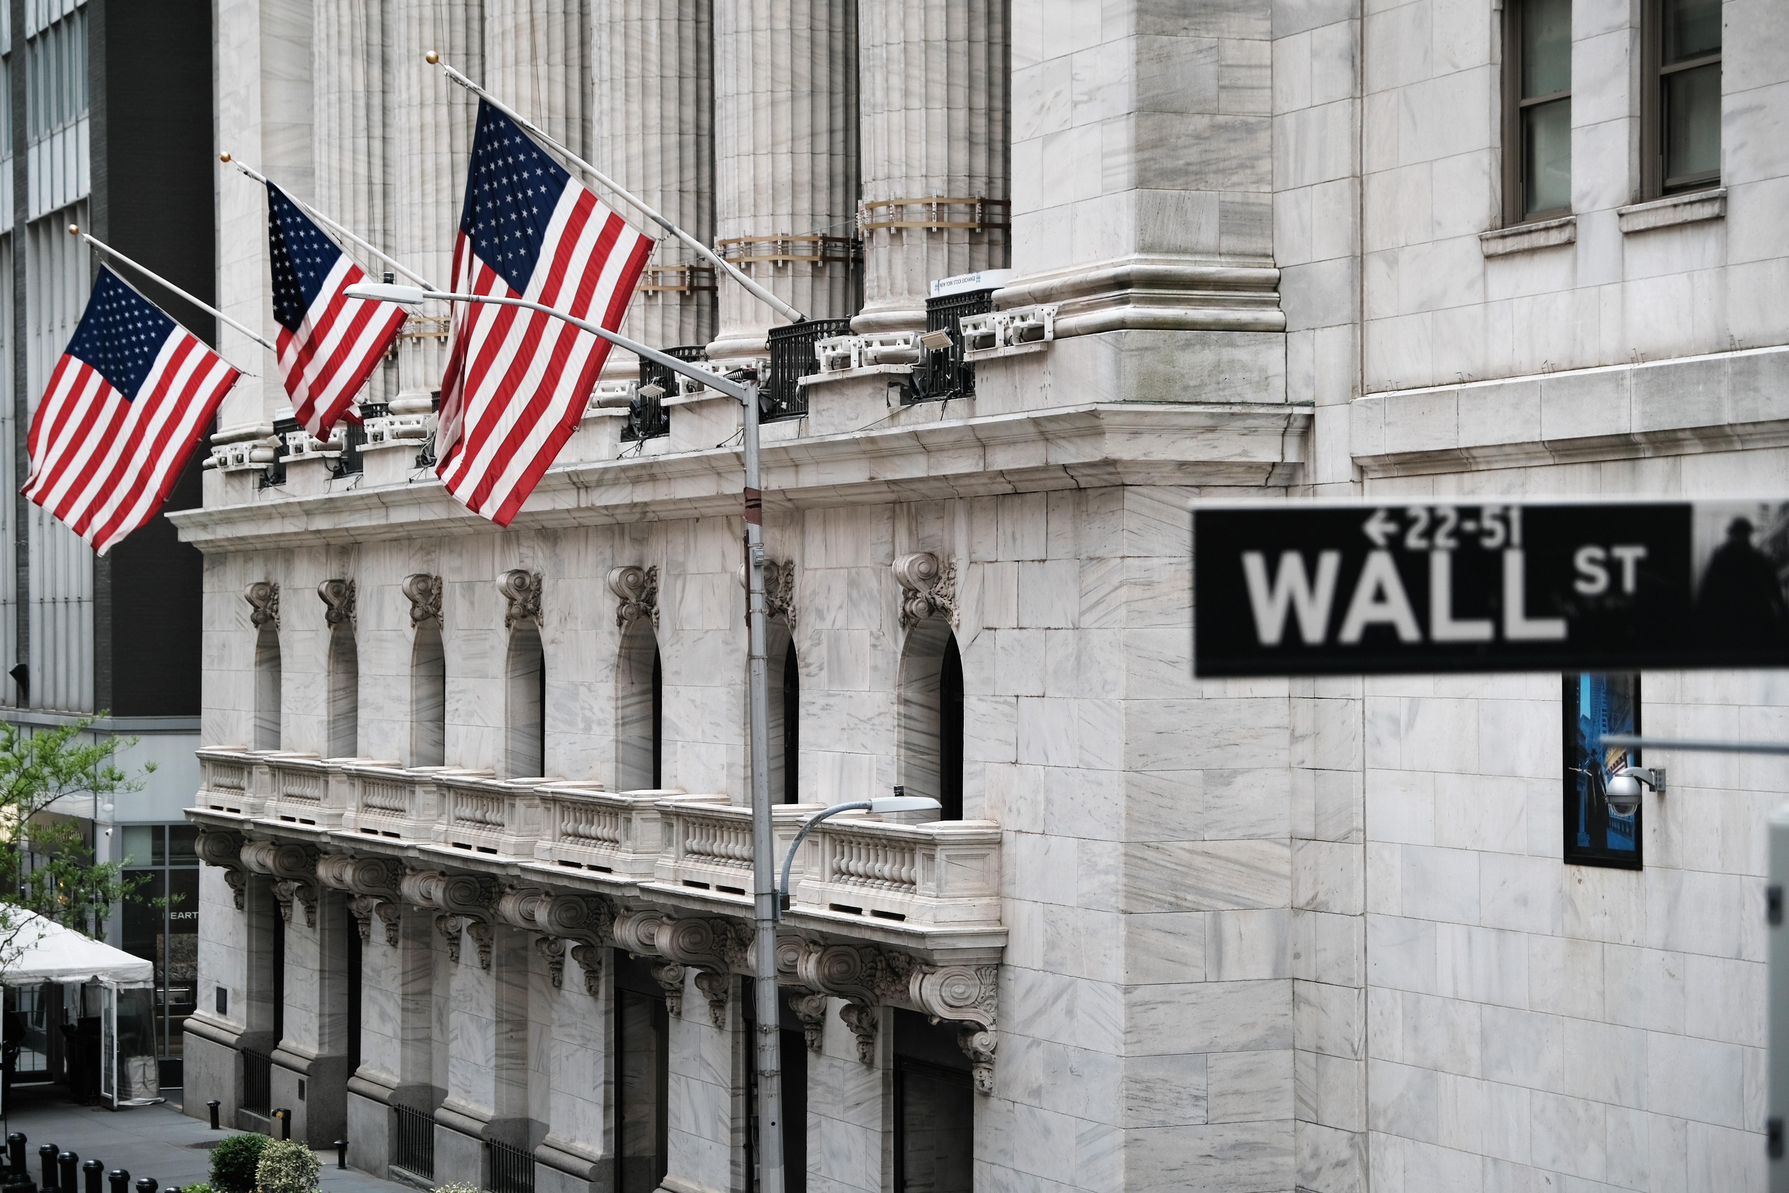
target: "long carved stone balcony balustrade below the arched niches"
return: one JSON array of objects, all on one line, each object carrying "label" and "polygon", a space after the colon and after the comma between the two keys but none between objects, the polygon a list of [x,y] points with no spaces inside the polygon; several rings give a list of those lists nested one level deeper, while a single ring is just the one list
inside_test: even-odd
[{"label": "long carved stone balcony balustrade below the arched niches", "polygon": [[[599,783],[519,778],[462,767],[399,767],[376,758],[200,749],[195,810],[243,828],[333,835],[342,846],[419,848],[440,864],[508,862],[542,880],[628,884],[642,894],[751,901],[751,808],[725,794],[608,792]],[[773,810],[776,864],[825,805]],[[553,875],[542,873],[553,871]],[[1000,826],[993,821],[896,825],[839,816],[807,837],[791,873],[793,912],[848,930],[1000,926]]]}]

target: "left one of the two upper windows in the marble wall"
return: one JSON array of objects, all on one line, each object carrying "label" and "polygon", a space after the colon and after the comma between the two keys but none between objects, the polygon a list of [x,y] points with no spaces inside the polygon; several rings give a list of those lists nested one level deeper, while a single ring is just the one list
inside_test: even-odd
[{"label": "left one of the two upper windows in the marble wall", "polygon": [[1517,224],[1571,211],[1571,0],[1506,11],[1505,209]]}]

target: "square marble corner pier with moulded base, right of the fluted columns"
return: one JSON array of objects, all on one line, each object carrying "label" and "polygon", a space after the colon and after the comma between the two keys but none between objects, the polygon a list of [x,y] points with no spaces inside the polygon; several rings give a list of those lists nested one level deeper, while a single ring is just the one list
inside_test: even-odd
[{"label": "square marble corner pier with moulded base, right of the fluted columns", "polygon": [[[1272,7],[1138,0],[1081,21],[1014,0],[1020,275],[995,300],[1059,306],[1052,368],[1075,401],[1286,401]],[[1070,88],[1091,61],[1123,84]]]}]

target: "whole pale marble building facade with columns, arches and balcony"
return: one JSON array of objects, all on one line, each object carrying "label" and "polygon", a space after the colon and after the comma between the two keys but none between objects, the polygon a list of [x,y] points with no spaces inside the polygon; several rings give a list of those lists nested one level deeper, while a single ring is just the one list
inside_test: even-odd
[{"label": "whole pale marble building facade with columns, arches and balcony", "polygon": [[[791,1188],[1764,1188],[1789,771],[1648,757],[1644,866],[1569,862],[1560,676],[1195,680],[1188,506],[1782,494],[1780,5],[218,0],[216,45],[220,148],[435,277],[471,107],[429,48],[852,320],[764,429],[778,832],[946,807],[796,860]],[[270,326],[261,202],[220,170],[216,293]],[[633,334],[766,354],[767,308],[653,270]],[[980,270],[973,395],[905,401]],[[397,433],[265,485],[277,370],[222,345],[263,367],[174,519],[186,1105],[501,1193],[755,1188],[737,410],[624,438],[612,361],[499,531]],[[1789,721],[1775,673],[1642,698]]]}]

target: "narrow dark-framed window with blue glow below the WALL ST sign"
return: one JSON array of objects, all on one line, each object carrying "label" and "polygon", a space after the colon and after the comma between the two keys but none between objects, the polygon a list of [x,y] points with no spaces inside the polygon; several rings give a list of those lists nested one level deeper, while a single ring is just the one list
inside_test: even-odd
[{"label": "narrow dark-framed window with blue glow below the WALL ST sign", "polygon": [[1603,733],[1641,732],[1641,676],[1565,676],[1565,860],[1581,866],[1641,867],[1641,812],[1608,808],[1608,778],[1639,766],[1637,751],[1599,748]]}]

